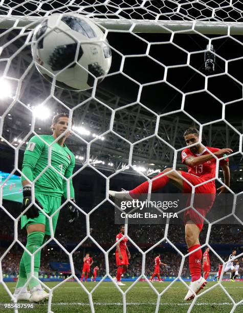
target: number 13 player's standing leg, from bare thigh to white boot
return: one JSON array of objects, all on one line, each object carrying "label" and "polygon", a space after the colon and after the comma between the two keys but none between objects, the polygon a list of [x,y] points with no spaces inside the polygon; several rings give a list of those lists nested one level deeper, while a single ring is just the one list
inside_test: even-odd
[{"label": "number 13 player's standing leg, from bare thigh to white boot", "polygon": [[[186,242],[188,246],[188,251],[192,252],[197,248],[200,248],[199,243],[200,229],[192,222],[187,221],[186,223]],[[191,273],[191,283],[189,286],[188,293],[184,300],[192,300],[197,295],[201,289],[204,288],[207,281],[202,277],[201,274],[201,259],[202,259],[202,249],[198,249],[189,255],[189,270]]]}]

